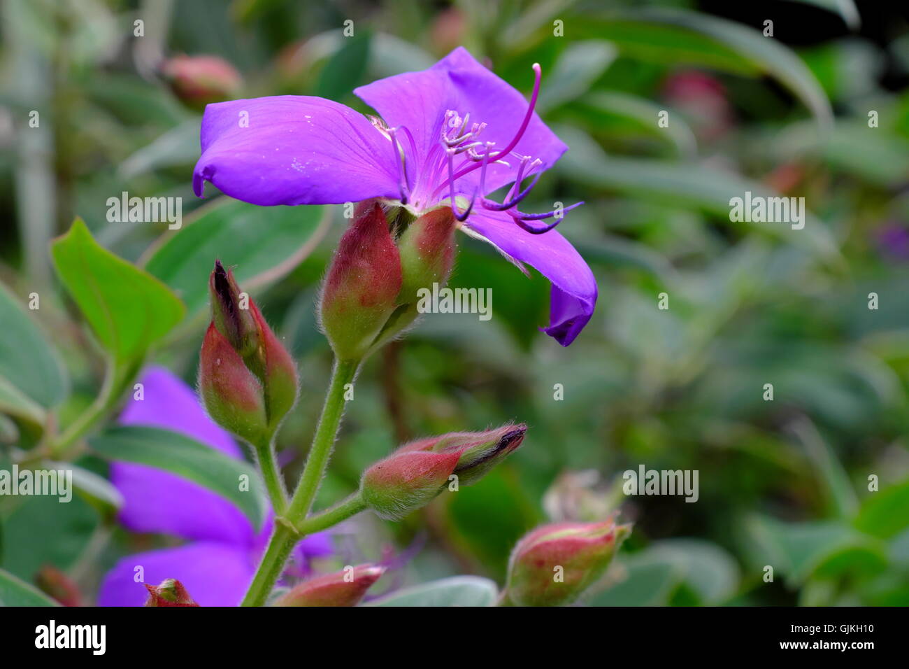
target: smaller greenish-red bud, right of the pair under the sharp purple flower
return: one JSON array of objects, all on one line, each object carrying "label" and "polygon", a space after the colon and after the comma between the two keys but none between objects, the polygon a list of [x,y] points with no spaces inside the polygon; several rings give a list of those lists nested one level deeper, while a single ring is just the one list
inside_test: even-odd
[{"label": "smaller greenish-red bud, right of the pair under the sharp purple flower", "polygon": [[454,228],[450,207],[435,208],[416,218],[398,239],[401,252],[401,303],[417,300],[417,291],[445,286],[454,265]]}]

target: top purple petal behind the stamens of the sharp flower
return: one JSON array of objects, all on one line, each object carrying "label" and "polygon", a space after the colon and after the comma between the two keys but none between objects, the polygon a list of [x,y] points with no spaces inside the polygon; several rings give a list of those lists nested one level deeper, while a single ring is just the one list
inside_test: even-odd
[{"label": "top purple petal behind the stamens of the sharp flower", "polygon": [[[529,68],[528,80],[532,81]],[[462,117],[469,113],[472,125],[485,123],[479,139],[495,142],[496,147],[503,149],[521,127],[529,105],[521,93],[477,62],[463,46],[428,70],[389,76],[356,88],[354,93],[379,112],[390,126],[409,127],[423,157],[438,143],[448,109],[454,109]],[[539,171],[554,165],[567,149],[534,112],[512,151],[539,158],[543,162],[537,168]],[[483,195],[514,181],[518,161],[514,157],[505,159],[511,167],[494,164],[487,167]],[[477,169],[458,179],[455,186],[458,192],[469,196],[479,181]]]}]

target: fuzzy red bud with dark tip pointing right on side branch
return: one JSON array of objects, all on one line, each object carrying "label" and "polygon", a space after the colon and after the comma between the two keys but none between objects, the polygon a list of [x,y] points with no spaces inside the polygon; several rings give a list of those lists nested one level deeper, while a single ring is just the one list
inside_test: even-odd
[{"label": "fuzzy red bud with dark tip pointing right on side branch", "polygon": [[424,507],[454,474],[471,485],[524,441],[525,425],[484,432],[454,432],[405,444],[364,472],[360,492],[366,506],[388,520]]}]

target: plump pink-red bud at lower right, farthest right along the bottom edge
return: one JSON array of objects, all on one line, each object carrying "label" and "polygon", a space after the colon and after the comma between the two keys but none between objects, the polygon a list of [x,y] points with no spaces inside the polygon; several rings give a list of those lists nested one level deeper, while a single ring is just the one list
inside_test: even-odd
[{"label": "plump pink-red bud at lower right, farthest right along the bottom edge", "polygon": [[556,522],[525,535],[508,563],[505,595],[518,606],[572,603],[603,575],[630,525]]}]

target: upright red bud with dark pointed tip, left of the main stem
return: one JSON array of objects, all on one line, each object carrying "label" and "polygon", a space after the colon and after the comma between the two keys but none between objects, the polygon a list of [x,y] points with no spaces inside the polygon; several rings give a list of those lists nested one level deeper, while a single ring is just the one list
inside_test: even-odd
[{"label": "upright red bud with dark pointed tip, left of the main stem", "polygon": [[205,409],[225,429],[261,444],[294,406],[294,360],[220,262],[215,262],[209,288],[212,322],[199,360]]}]

